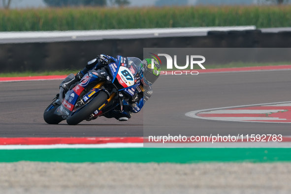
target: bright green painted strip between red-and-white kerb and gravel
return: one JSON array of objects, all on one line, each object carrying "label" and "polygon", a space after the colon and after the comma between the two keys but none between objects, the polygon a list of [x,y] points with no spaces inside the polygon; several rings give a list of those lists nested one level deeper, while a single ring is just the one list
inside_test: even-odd
[{"label": "bright green painted strip between red-and-white kerb and gravel", "polygon": [[97,148],[0,150],[0,162],[291,162],[291,148]]}]

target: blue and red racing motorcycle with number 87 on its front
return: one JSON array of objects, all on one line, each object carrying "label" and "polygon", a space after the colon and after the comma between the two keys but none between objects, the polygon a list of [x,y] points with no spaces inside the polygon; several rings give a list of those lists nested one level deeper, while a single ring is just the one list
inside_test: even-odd
[{"label": "blue and red racing motorcycle with number 87 on its front", "polygon": [[[136,66],[141,63],[135,57],[117,56],[116,63],[90,70],[66,93],[60,87],[60,93],[44,111],[44,121],[59,124],[66,120],[68,125],[77,125],[83,120],[96,119],[118,106],[122,111],[123,100],[133,97],[140,85]],[[68,75],[62,84],[73,77],[74,74]]]}]

